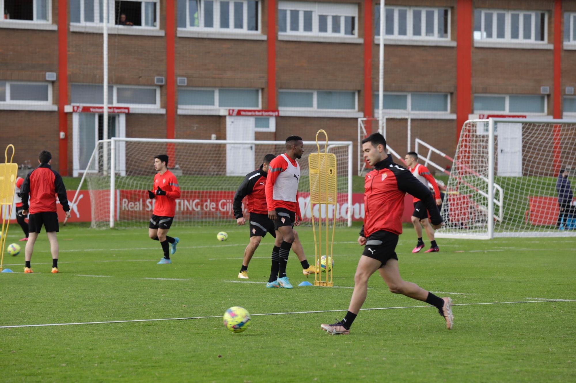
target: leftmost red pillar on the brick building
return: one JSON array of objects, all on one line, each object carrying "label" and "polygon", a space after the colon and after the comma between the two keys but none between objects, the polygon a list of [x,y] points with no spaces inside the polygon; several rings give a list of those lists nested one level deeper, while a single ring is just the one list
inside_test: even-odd
[{"label": "leftmost red pillar on the brick building", "polygon": [[58,139],[58,171],[68,175],[68,18],[67,0],[58,0],[58,128],[64,138]]}]

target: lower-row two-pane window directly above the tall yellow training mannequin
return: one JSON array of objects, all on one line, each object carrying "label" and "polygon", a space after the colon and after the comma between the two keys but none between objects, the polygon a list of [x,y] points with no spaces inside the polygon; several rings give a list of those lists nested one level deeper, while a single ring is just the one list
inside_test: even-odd
[{"label": "lower-row two-pane window directly above the tall yellow training mannequin", "polygon": [[279,109],[357,110],[357,92],[336,90],[280,90]]}]

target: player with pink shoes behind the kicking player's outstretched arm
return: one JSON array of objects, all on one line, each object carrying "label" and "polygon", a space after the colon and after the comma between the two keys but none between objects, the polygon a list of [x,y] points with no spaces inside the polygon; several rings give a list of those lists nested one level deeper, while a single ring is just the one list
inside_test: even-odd
[{"label": "player with pink shoes behind the kicking player's outstretched arm", "polygon": [[[422,182],[424,186],[428,186],[430,184],[433,187],[434,198],[439,210],[442,206],[442,201],[444,200],[444,193],[442,193],[438,188],[438,183],[436,182],[436,179],[430,174],[430,170],[428,170],[426,166],[418,163],[418,154],[416,152],[408,152],[406,157],[404,157],[404,160],[406,161],[406,166],[408,166],[408,169],[412,172],[412,175],[418,179],[418,181]],[[434,239],[434,229],[431,227],[428,220],[428,210],[426,209],[426,205],[424,205],[424,202],[422,202],[417,197],[414,197],[413,202],[414,212],[412,212],[412,224],[414,225],[416,235],[418,236],[418,243],[416,243],[416,247],[414,250],[412,250],[412,252],[419,252],[424,247],[424,242],[422,240],[422,228],[424,228],[428,239],[430,239],[430,248],[425,252],[440,251],[438,245],[436,244],[436,240]]]}]

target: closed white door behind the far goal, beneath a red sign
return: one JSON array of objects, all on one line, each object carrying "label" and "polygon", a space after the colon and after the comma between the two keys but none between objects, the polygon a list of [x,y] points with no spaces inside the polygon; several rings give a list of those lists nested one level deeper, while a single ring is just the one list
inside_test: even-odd
[{"label": "closed white door behind the far goal, beneath a red sign", "polygon": [[[226,117],[226,140],[253,141],[254,117]],[[255,168],[254,145],[226,145],[226,175],[246,175]]]}]

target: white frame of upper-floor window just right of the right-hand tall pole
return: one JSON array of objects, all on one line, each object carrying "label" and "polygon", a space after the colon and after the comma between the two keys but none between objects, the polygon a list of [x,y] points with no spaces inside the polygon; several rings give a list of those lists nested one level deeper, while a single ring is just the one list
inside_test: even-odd
[{"label": "white frame of upper-floor window just right of the right-hand tall pole", "polygon": [[[375,6],[379,6],[380,4],[376,4]],[[405,40],[450,40],[452,37],[450,35],[451,32],[451,22],[452,22],[452,9],[450,7],[406,7],[406,6],[386,6],[384,5],[384,11],[386,9],[393,9],[394,10],[394,34],[393,35],[386,35],[386,12],[384,12],[384,39],[405,39]],[[403,9],[406,10],[406,35],[398,35],[398,10]],[[445,37],[438,37],[438,12],[440,10],[444,11],[448,9],[448,31],[446,32]],[[414,11],[419,10],[422,12],[422,20],[420,20],[420,30],[422,31],[422,35],[414,35]],[[434,10],[434,36],[426,36],[426,11]],[[379,39],[380,36],[377,36],[376,33],[380,32],[380,25],[375,26],[374,37]]]}]

